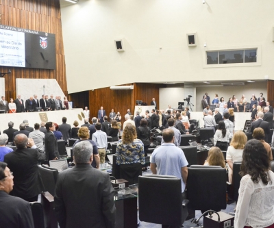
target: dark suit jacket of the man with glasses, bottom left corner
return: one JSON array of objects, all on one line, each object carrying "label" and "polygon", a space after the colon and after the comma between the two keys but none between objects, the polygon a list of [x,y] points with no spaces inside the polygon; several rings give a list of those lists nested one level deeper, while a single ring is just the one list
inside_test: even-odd
[{"label": "dark suit jacket of the man with glasses, bottom left corner", "polygon": [[0,191],[1,227],[34,228],[29,202]]}]

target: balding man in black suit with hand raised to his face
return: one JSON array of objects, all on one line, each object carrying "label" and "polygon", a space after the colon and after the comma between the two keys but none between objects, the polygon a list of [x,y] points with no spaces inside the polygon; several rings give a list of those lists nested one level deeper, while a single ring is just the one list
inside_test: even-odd
[{"label": "balding man in black suit with hand raised to his face", "polygon": [[37,162],[45,161],[45,152],[36,149],[34,140],[24,134],[15,136],[14,144],[16,151],[4,157],[4,162],[8,163],[14,173],[14,188],[10,194],[25,201],[37,201],[38,194],[44,190]]}]

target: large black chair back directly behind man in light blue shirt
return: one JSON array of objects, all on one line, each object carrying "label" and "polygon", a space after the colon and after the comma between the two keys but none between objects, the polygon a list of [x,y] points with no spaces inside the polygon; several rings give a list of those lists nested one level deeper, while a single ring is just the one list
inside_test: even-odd
[{"label": "large black chair back directly behind man in light blue shirt", "polygon": [[182,206],[181,179],[177,177],[139,176],[138,198],[141,221],[181,227],[188,215]]}]

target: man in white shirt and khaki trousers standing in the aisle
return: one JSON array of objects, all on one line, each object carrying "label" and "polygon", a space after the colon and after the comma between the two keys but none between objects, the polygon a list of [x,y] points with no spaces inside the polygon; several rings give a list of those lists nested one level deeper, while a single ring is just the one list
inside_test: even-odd
[{"label": "man in white shirt and khaki trousers standing in the aisle", "polygon": [[100,164],[105,163],[105,151],[108,148],[108,137],[107,134],[101,131],[101,123],[95,124],[95,133],[92,134],[92,141],[96,143],[98,153],[100,155]]}]

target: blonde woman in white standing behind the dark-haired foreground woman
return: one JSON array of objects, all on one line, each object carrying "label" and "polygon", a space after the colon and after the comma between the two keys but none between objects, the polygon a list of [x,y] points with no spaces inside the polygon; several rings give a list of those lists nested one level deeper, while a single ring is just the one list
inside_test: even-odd
[{"label": "blonde woman in white standing behind the dark-haired foreground woman", "polygon": [[247,143],[247,136],[242,131],[236,131],[230,146],[227,147],[228,181],[232,183],[232,170],[234,162],[242,162],[242,152]]}]

